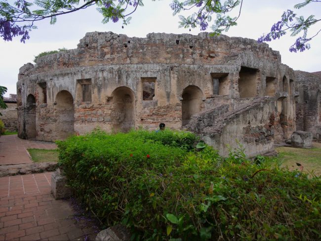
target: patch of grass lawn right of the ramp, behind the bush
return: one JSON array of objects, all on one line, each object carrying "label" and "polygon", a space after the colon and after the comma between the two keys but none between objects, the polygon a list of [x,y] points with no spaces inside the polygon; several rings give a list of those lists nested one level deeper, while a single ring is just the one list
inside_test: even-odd
[{"label": "patch of grass lawn right of the ramp, behind the bush", "polygon": [[282,166],[287,166],[290,170],[300,170],[296,164],[300,163],[304,172],[321,175],[321,143],[314,142],[311,149],[278,147],[276,151]]}]

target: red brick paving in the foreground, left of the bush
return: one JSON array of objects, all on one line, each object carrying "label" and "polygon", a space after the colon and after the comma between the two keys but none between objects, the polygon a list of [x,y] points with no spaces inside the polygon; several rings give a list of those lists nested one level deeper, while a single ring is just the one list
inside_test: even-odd
[{"label": "red brick paving in the foreground, left of the bush", "polygon": [[0,177],[0,241],[84,239],[69,203],[50,194],[51,174]]}]

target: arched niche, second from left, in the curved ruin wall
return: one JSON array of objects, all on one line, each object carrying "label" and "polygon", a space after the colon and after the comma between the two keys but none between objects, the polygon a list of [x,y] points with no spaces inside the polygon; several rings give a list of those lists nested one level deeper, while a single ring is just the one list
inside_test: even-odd
[{"label": "arched niche, second from left, in the curved ruin wall", "polygon": [[56,139],[64,140],[74,134],[74,99],[70,92],[61,90],[55,99]]}]

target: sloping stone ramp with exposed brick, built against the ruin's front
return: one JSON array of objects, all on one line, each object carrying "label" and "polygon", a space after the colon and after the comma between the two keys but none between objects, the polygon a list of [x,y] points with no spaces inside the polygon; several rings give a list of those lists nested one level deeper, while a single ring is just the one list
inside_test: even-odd
[{"label": "sloping stone ramp with exposed brick, built against the ruin's front", "polygon": [[274,130],[278,122],[273,98],[257,97],[250,102],[237,105],[229,110],[229,105],[219,105],[192,116],[184,128],[198,133],[201,138],[222,156],[229,155],[229,146],[238,148],[242,143],[245,154],[253,157],[273,151]]}]

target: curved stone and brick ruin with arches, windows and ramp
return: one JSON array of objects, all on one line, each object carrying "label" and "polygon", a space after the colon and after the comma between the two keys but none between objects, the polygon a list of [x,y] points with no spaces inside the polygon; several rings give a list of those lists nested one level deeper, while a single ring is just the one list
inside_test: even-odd
[{"label": "curved stone and brick ruin with arches, windows and ramp", "polygon": [[312,77],[296,75],[278,51],[255,40],[87,33],[77,49],[20,68],[18,136],[54,141],[96,127],[155,130],[164,122],[200,134],[222,155],[227,144],[241,143],[251,157],[296,129],[314,129],[316,137],[320,121],[307,113],[314,106],[320,116],[320,91],[318,104],[304,103],[312,93],[299,88]]}]

